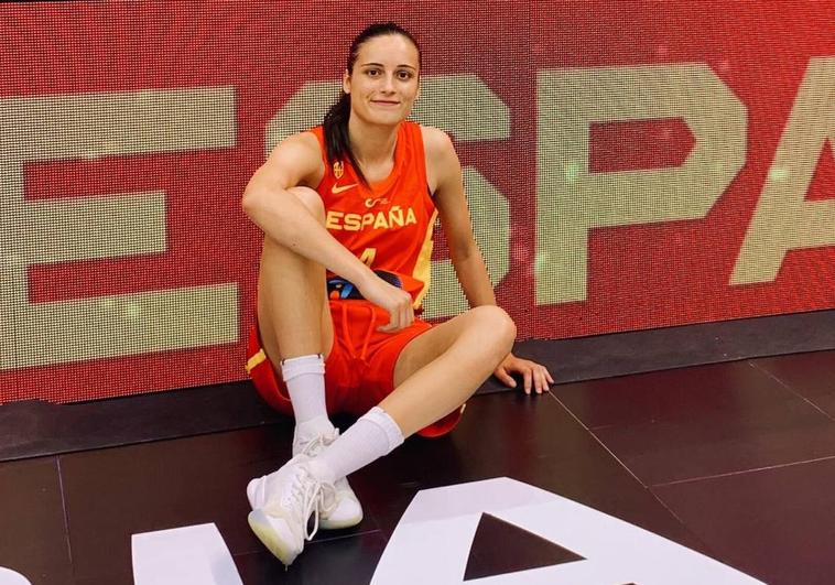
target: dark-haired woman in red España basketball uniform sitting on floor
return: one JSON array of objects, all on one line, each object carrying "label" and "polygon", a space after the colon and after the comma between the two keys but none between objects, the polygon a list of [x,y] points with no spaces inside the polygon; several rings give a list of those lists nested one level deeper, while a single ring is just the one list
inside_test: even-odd
[{"label": "dark-haired woman in red Espa\u00f1a basketball uniform sitting on floor", "polygon": [[[279,144],[243,195],[265,235],[247,368],[296,419],[293,458],[247,488],[249,523],[285,565],[313,537],[311,514],[314,533],[362,519],[348,474],[413,433],[452,430],[490,373],[510,387],[521,375],[528,393],[553,383],[510,353],[516,326],[496,306],[449,138],[405,121],[420,65],[398,25],[362,31],[323,126]],[[415,310],[436,214],[473,308],[430,326]],[[338,436],[335,411],[361,416]]]}]

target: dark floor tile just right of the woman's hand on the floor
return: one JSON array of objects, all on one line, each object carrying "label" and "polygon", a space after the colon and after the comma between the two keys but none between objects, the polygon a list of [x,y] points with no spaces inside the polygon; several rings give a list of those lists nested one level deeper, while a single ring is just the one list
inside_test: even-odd
[{"label": "dark floor tile just right of the woman's hand on the floor", "polygon": [[835,456],[832,419],[755,362],[567,384],[556,393],[644,485]]}]

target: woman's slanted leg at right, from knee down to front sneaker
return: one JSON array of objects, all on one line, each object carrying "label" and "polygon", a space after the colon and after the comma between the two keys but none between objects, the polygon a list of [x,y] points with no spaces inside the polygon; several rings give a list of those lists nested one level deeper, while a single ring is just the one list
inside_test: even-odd
[{"label": "woman's slanted leg at right, from knee down to front sneaker", "polygon": [[[290,564],[304,549],[306,500],[319,502],[335,481],[386,455],[419,431],[469,398],[507,356],[516,326],[501,308],[484,306],[434,327],[406,345],[398,359],[397,388],[343,436],[310,461],[289,462],[264,478],[250,483],[263,497],[256,501],[249,523],[261,542]],[[296,499],[294,499],[296,498]],[[269,501],[286,502],[267,507]]]}]

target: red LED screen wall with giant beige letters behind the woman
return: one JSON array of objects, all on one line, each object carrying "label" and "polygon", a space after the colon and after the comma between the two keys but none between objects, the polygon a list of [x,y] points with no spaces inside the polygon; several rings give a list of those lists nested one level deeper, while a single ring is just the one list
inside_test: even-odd
[{"label": "red LED screen wall with giant beige letters behind the woman", "polygon": [[0,401],[243,379],[240,195],[389,19],[520,338],[835,306],[834,2],[2,4]]}]

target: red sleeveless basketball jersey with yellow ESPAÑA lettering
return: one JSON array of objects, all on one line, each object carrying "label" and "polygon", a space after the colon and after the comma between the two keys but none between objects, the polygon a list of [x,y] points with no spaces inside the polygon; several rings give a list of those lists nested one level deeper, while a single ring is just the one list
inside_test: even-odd
[{"label": "red sleeveless basketball jersey with yellow ESPA\u00d1A lettering", "polygon": [[[394,165],[389,176],[364,184],[348,161],[328,164],[322,127],[325,176],[316,191],[325,204],[325,227],[372,270],[393,273],[412,295],[415,308],[429,291],[432,229],[437,210],[426,183],[420,124],[404,121],[398,130]],[[334,274],[328,273],[328,279]]]}]

